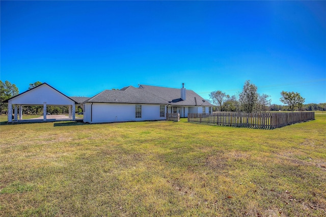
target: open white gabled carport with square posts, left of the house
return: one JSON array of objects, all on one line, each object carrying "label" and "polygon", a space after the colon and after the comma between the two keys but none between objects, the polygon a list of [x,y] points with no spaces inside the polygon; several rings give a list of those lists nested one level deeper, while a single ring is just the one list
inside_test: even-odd
[{"label": "open white gabled carport with square posts, left of the house", "polygon": [[[22,121],[22,106],[43,106],[43,120],[46,119],[47,106],[68,106],[69,120],[75,120],[75,103],[76,101],[62,94],[59,90],[51,87],[47,83],[42,83],[32,89],[12,97],[5,101],[8,103],[8,122]],[[14,115],[13,110],[14,108]],[[19,112],[19,113],[18,113]]]}]

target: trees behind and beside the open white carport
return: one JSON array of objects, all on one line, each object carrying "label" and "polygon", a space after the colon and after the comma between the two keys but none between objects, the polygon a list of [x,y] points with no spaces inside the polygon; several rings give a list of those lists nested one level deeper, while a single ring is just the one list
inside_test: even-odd
[{"label": "trees behind and beside the open white carport", "polygon": [[[32,89],[38,85],[41,85],[42,82],[36,81],[30,84],[29,89]],[[19,94],[18,87],[15,84],[10,83],[9,81],[0,80],[0,113],[8,114],[8,105],[4,101],[17,96]],[[77,113],[82,112],[83,109],[80,106],[76,106],[75,111]],[[46,112],[50,114],[67,114],[69,113],[68,106],[47,106]],[[23,106],[23,114],[43,114],[43,106]]]}]

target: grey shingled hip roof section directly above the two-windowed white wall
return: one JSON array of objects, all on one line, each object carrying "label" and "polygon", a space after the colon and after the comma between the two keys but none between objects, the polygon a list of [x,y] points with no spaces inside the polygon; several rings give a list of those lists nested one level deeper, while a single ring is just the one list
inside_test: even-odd
[{"label": "grey shingled hip roof section directly above the two-windowed white wall", "polygon": [[169,104],[147,91],[133,86],[127,86],[120,90],[104,90],[86,102],[89,103],[130,103],[130,104]]}]

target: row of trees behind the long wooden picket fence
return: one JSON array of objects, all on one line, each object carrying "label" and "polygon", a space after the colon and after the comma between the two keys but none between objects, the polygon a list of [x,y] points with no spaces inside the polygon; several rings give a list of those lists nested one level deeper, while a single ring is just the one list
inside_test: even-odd
[{"label": "row of trees behind the long wooden picket fence", "polygon": [[262,111],[326,111],[326,103],[304,105],[305,99],[298,92],[282,91],[280,101],[284,105],[271,105],[270,96],[258,94],[257,86],[247,80],[238,95],[230,96],[221,90],[212,91],[209,98],[214,111],[244,111],[247,113]]}]

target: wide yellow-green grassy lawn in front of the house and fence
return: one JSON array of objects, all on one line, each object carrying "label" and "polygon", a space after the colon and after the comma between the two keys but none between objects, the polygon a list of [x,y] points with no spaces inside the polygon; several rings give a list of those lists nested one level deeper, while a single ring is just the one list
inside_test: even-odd
[{"label": "wide yellow-green grassy lawn in front of the house and fence", "polygon": [[275,130],[2,125],[0,216],[325,216],[325,134],[323,114]]}]

